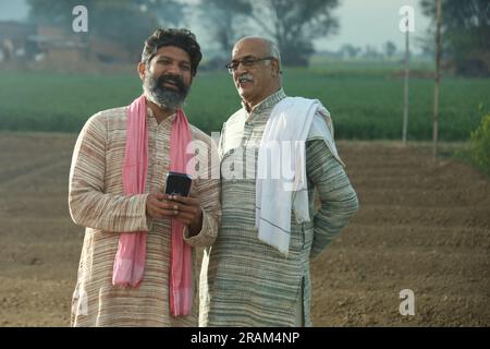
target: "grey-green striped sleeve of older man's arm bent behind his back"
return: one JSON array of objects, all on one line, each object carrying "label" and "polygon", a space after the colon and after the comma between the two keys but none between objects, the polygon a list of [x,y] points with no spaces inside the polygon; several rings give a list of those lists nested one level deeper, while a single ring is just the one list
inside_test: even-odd
[{"label": "grey-green striped sleeve of older man's arm bent behind his back", "polygon": [[310,257],[315,258],[347,225],[358,209],[358,201],[343,166],[323,140],[306,142],[306,171],[321,203],[314,217]]}]

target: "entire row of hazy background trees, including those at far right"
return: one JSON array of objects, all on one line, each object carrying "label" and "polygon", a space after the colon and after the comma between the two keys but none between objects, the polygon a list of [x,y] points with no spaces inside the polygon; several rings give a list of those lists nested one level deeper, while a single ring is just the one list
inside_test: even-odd
[{"label": "entire row of hazy background trees, including those at far right", "polygon": [[[135,57],[142,41],[157,26],[193,27],[196,21],[229,57],[236,39],[262,35],[274,40],[284,65],[307,65],[315,52],[314,40],[339,33],[333,10],[339,0],[27,0],[33,23],[71,27],[72,9],[88,9],[88,35],[122,45]],[[436,16],[436,1],[420,0],[424,13]],[[443,58],[456,73],[490,74],[490,1],[442,0]],[[433,25],[425,38],[426,51],[433,51]],[[368,48],[366,48],[368,49]],[[396,48],[383,47],[388,57]],[[344,46],[346,56],[359,50]],[[357,51],[356,51],[357,50]]]}]

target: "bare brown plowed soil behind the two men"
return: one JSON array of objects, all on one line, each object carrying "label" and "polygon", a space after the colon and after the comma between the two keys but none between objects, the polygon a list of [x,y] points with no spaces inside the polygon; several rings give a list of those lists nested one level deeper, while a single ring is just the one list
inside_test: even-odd
[{"label": "bare brown plowed soil behind the two men", "polygon": [[[74,135],[0,133],[0,325],[69,326],[84,229]],[[360,209],[311,264],[315,326],[489,326],[490,181],[394,142],[339,142]],[[414,292],[414,315],[399,311]]]}]

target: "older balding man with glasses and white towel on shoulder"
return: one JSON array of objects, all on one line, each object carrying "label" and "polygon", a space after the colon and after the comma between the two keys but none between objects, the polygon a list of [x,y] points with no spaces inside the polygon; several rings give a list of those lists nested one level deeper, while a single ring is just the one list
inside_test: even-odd
[{"label": "older balding man with glasses and white towel on shoulder", "polygon": [[219,144],[222,221],[204,255],[201,326],[311,326],[310,260],[358,209],[329,111],[286,97],[280,65],[260,37],[238,40],[226,64],[243,108]]}]

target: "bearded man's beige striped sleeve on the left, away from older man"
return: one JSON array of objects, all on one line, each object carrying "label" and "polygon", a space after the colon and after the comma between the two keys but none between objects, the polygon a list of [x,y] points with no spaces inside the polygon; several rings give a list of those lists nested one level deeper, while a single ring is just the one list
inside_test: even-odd
[{"label": "bearded man's beige striped sleeve on the left, away from older man", "polygon": [[105,192],[107,132],[103,115],[83,128],[70,169],[69,206],[75,224],[112,232],[147,231],[148,194],[117,195]]}]

